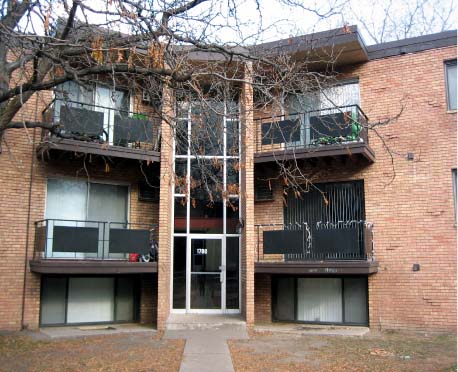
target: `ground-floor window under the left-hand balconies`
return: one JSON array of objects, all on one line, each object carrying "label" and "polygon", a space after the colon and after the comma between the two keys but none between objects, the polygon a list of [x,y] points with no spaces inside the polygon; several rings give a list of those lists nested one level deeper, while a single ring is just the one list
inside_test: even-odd
[{"label": "ground-floor window under the left-hand balconies", "polygon": [[135,277],[44,276],[40,324],[136,321],[138,289]]}]

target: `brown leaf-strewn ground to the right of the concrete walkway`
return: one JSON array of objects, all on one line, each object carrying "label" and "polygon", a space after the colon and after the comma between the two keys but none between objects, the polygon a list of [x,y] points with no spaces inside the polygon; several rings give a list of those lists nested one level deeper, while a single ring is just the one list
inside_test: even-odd
[{"label": "brown leaf-strewn ground to the right of the concrete walkway", "polygon": [[456,371],[454,335],[312,336],[251,332],[229,341],[236,372]]}]

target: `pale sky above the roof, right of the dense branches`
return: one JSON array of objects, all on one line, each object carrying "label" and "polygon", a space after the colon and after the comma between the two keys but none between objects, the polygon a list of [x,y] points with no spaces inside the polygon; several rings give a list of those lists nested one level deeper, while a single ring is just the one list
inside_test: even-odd
[{"label": "pale sky above the roof, right of the dense branches", "polygon": [[[237,14],[242,20],[245,35],[256,35],[253,38],[259,38],[257,42],[273,41],[348,24],[357,25],[366,44],[371,45],[457,28],[456,0],[289,1],[303,7],[286,6],[276,0],[260,0],[258,10],[255,1],[240,0]],[[257,32],[259,27],[266,29],[262,35]],[[227,32],[220,37],[231,40],[234,34]]]}]

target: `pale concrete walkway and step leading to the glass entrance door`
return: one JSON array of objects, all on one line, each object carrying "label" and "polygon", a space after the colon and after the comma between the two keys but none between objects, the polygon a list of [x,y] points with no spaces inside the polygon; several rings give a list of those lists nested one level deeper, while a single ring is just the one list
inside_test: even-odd
[{"label": "pale concrete walkway and step leading to the glass entrance door", "polygon": [[173,314],[164,338],[185,339],[180,372],[234,372],[228,339],[247,339],[239,317]]}]

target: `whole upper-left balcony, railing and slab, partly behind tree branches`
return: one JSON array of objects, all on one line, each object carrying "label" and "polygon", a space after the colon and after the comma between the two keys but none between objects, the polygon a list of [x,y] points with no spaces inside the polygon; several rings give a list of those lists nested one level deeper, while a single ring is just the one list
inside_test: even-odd
[{"label": "whole upper-left balcony, railing and slab, partly behind tree branches", "polygon": [[59,126],[61,136],[44,132],[38,153],[87,153],[159,161],[160,120],[148,114],[54,99],[43,122]]}]

